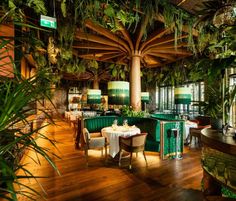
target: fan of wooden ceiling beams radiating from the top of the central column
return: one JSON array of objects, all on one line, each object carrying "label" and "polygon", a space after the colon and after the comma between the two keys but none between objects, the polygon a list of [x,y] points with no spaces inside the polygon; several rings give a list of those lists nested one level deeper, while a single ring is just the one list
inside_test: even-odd
[{"label": "fan of wooden ceiling beams radiating from the top of the central column", "polygon": [[[201,2],[202,0],[171,0],[171,3],[190,13],[193,13],[194,8]],[[177,37],[177,45],[174,28],[164,26],[162,15],[156,16],[154,26],[155,31],[148,33],[145,38],[144,32],[147,27],[145,17],[135,33],[126,29],[121,23],[119,23],[120,29],[112,32],[87,20],[85,29],[77,30],[73,46],[74,54],[84,59],[126,65],[130,65],[132,56],[139,55],[141,66],[148,68],[161,67],[192,55],[186,42],[189,31],[187,26],[183,26],[183,33]],[[197,36],[196,31],[193,34]]]}]

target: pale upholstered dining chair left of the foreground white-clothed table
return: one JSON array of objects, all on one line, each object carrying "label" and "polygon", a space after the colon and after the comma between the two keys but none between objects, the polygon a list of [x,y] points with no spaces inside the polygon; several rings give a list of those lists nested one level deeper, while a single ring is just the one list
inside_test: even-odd
[{"label": "pale upholstered dining chair left of the foreground white-clothed table", "polygon": [[84,152],[86,158],[86,164],[88,166],[88,150],[89,149],[101,149],[103,156],[103,149],[105,148],[105,159],[107,158],[107,141],[102,135],[91,137],[87,128],[83,128],[83,138],[84,138]]}]

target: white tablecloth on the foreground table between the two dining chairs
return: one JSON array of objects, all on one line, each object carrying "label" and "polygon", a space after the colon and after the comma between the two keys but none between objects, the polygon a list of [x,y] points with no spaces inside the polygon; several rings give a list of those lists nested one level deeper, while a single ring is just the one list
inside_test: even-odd
[{"label": "white tablecloth on the foreground table between the two dining chairs", "polygon": [[102,129],[102,135],[108,139],[109,154],[114,158],[119,152],[119,136],[132,136],[140,133],[136,126],[123,127],[118,126],[116,129],[105,127]]}]

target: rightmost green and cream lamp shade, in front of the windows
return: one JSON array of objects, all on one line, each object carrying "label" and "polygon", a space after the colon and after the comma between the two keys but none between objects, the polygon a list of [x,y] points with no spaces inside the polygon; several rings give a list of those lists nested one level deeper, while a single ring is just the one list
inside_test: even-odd
[{"label": "rightmost green and cream lamp shade, in front of the windows", "polygon": [[191,90],[186,87],[175,88],[175,104],[190,104]]}]

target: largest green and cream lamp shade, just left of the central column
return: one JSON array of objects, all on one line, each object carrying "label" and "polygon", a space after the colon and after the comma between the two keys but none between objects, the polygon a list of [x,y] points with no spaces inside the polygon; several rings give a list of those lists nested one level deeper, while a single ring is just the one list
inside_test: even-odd
[{"label": "largest green and cream lamp shade, just left of the central column", "polygon": [[129,82],[108,82],[108,104],[129,105]]}]

